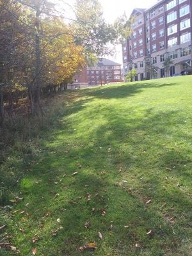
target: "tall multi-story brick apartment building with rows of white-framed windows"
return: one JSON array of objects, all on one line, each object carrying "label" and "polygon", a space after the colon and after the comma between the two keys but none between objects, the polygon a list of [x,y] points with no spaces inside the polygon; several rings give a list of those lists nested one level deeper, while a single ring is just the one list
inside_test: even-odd
[{"label": "tall multi-story brick apartment building with rows of white-framed windows", "polygon": [[132,16],[132,34],[122,44],[124,77],[132,68],[136,81],[191,70],[192,0],[159,0]]}]

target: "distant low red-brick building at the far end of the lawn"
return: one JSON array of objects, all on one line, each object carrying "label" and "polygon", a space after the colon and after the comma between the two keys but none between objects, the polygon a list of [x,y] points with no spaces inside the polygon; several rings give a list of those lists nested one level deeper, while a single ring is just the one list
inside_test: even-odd
[{"label": "distant low red-brick building at the far end of the lawn", "polygon": [[71,88],[83,88],[87,86],[118,83],[122,79],[121,64],[106,58],[100,58],[94,67],[84,67],[79,74],[74,76]]}]

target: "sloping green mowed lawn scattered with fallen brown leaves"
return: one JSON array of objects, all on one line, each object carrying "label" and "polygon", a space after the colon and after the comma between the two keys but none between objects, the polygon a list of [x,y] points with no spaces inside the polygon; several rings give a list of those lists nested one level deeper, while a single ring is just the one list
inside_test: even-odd
[{"label": "sloping green mowed lawn scattered with fallen brown leaves", "polygon": [[0,255],[192,255],[192,76],[61,95],[1,168]]}]

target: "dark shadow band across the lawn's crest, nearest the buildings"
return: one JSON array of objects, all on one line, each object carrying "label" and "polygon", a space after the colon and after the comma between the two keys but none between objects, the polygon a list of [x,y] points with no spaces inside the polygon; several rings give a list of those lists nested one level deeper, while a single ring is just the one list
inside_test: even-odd
[{"label": "dark shadow band across the lawn's crest, nearest the buildings", "polygon": [[[122,97],[131,97],[136,95],[136,93],[143,92],[143,90],[147,88],[161,88],[165,86],[175,86],[178,83],[134,83],[134,84],[125,84],[121,86],[104,86],[100,87],[100,90],[90,90],[88,92],[88,95],[91,95],[93,97],[98,97],[102,99],[110,99],[110,98],[115,98],[119,99]],[[87,90],[86,90],[87,93]]]}]

